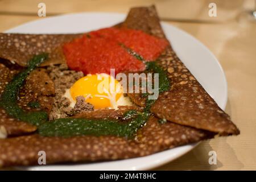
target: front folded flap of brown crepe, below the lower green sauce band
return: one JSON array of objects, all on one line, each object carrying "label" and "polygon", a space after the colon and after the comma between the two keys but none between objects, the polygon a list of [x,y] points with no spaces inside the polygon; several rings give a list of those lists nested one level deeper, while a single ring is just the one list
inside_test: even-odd
[{"label": "front folded flap of brown crepe, below the lower green sauce band", "polygon": [[47,164],[128,159],[213,137],[212,133],[171,122],[160,124],[155,117],[148,119],[138,132],[136,140],[114,136],[41,137],[37,134],[0,139],[0,166],[38,164],[39,151],[46,152]]}]

